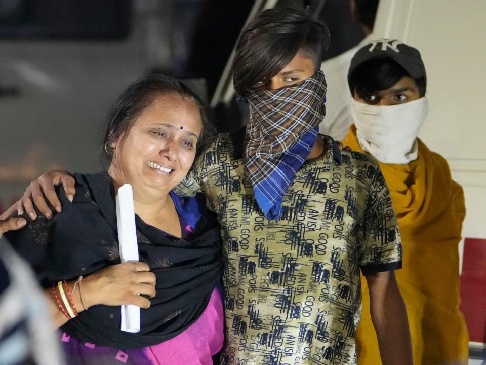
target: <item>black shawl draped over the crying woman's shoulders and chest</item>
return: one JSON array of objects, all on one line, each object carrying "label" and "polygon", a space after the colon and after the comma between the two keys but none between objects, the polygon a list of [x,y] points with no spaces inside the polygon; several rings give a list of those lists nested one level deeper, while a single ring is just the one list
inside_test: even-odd
[{"label": "black shawl draped over the crying woman's shoulders and chest", "polygon": [[[20,231],[6,234],[34,268],[44,288],[120,262],[116,208],[109,175],[75,174],[76,195],[59,192],[62,213],[51,221],[39,215]],[[62,190],[62,188],[61,188]],[[221,239],[213,214],[195,198],[179,198],[184,220],[195,226],[192,239],[178,239],[136,216],[140,261],[156,276],[156,296],[141,309],[139,333],[120,331],[120,307],[97,305],[69,320],[62,330],[75,338],[114,348],[142,348],[183,332],[205,310],[220,278]],[[197,223],[196,223],[197,222]]]}]

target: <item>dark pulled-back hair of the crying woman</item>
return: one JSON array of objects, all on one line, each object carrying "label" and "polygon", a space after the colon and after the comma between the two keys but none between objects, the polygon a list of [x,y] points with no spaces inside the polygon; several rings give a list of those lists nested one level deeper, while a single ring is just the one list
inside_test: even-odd
[{"label": "dark pulled-back hair of the crying woman", "polygon": [[205,103],[190,88],[179,80],[167,75],[145,76],[126,88],[111,106],[106,119],[103,157],[111,161],[109,145],[130,130],[140,114],[150,106],[155,97],[176,94],[184,100],[194,102],[199,107],[201,116],[201,133],[199,135],[196,153],[200,152],[201,143],[214,133],[208,108]]}]

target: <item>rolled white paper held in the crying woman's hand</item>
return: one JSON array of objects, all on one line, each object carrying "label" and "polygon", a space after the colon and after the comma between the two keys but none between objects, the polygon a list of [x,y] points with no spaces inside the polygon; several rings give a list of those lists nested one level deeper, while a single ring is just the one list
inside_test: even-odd
[{"label": "rolled white paper held in the crying woman's hand", "polygon": [[[130,184],[125,184],[118,189],[118,195],[116,196],[116,222],[118,224],[121,262],[138,261],[133,190]],[[121,306],[121,331],[140,331],[140,307],[133,304]]]}]

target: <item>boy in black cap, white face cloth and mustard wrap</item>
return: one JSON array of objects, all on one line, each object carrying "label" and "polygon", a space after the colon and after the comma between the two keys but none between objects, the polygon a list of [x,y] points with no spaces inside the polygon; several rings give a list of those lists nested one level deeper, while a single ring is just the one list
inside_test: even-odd
[{"label": "boy in black cap, white face cloth and mustard wrap", "polygon": [[[464,193],[446,160],[417,137],[428,112],[420,53],[398,40],[372,41],[354,55],[348,83],[354,124],[342,142],[377,159],[390,189],[403,244],[403,268],[395,275],[407,306],[414,363],[466,364],[458,255]],[[361,284],[366,308],[366,280]],[[356,345],[360,365],[381,364],[364,310]]]}]

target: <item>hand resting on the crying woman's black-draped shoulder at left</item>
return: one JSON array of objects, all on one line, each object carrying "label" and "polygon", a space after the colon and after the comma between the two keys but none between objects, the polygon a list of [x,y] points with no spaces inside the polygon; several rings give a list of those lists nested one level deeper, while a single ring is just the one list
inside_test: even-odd
[{"label": "hand resting on the crying woman's black-draped shoulder at left", "polygon": [[[74,178],[65,170],[50,170],[45,174],[37,177],[25,190],[23,197],[16,203],[16,209],[19,215],[24,211],[31,219],[37,218],[33,204],[41,211],[47,219],[52,218],[51,209],[46,203],[46,199],[56,209],[61,211],[61,202],[59,201],[54,187],[62,184],[67,199],[72,201],[76,190],[74,189]],[[15,204],[14,204],[15,205]],[[9,209],[10,211],[10,209]]]}]

